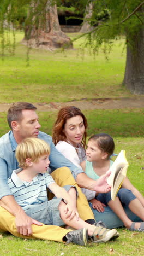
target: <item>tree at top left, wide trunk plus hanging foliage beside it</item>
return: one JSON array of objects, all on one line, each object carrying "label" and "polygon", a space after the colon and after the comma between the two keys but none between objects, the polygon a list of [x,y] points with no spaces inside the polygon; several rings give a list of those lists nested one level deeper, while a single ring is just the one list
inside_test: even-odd
[{"label": "tree at top left, wide trunk plus hanging foliage beside it", "polygon": [[19,20],[23,19],[28,9],[23,25],[25,31],[23,44],[31,48],[49,50],[66,45],[73,46],[70,38],[61,30],[54,0],[0,0],[0,36],[3,52],[4,45],[10,44],[5,42],[4,29],[13,28],[15,34],[15,29],[19,27]]}]

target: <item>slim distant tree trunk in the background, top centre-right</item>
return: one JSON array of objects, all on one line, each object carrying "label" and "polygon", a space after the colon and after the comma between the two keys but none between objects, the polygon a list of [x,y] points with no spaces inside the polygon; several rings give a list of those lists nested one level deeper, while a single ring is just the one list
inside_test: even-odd
[{"label": "slim distant tree trunk in the background, top centre-right", "polygon": [[93,3],[91,2],[88,5],[86,5],[85,18],[83,20],[80,33],[86,33],[93,29],[93,27],[91,27],[91,25],[88,22],[88,20],[92,18],[92,14],[93,14]]}]

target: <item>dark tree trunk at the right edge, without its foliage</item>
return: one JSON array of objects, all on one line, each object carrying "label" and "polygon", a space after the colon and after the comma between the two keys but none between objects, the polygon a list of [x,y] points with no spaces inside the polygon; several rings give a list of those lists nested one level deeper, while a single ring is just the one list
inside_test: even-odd
[{"label": "dark tree trunk at the right edge, without its foliage", "polygon": [[132,94],[144,94],[144,28],[132,38],[133,47],[127,38],[127,59],[123,84]]}]

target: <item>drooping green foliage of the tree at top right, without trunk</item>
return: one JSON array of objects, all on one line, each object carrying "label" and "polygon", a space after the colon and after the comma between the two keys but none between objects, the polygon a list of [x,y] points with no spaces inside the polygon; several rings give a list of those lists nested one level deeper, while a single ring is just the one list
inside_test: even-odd
[{"label": "drooping green foliage of the tree at top right, without trunk", "polygon": [[[140,0],[105,0],[105,1],[93,1],[93,16],[92,23],[97,25],[98,17],[103,14],[103,11],[107,10],[106,17],[101,20],[99,26],[95,27],[91,32],[86,33],[86,41],[83,44],[83,48],[89,46],[94,53],[98,53],[102,45],[104,45],[104,53],[107,57],[109,51],[112,49],[113,40],[117,37],[125,34],[127,36],[127,42],[133,48],[133,40],[135,34],[143,27],[143,9],[142,7],[134,10],[144,1]],[[109,10],[109,11],[108,11]],[[109,15],[108,15],[109,14]],[[132,15],[133,14],[133,15]]]}]

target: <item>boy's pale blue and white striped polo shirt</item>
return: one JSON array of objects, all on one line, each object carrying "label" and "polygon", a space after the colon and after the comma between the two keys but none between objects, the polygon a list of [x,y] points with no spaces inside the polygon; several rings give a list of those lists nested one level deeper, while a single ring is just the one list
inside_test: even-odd
[{"label": "boy's pale blue and white striped polo shirt", "polygon": [[31,182],[27,182],[22,181],[17,176],[17,173],[21,171],[21,168],[14,170],[7,182],[16,202],[21,207],[25,207],[48,201],[46,188],[48,188],[50,184],[55,183],[51,175],[48,173],[39,173]]}]

